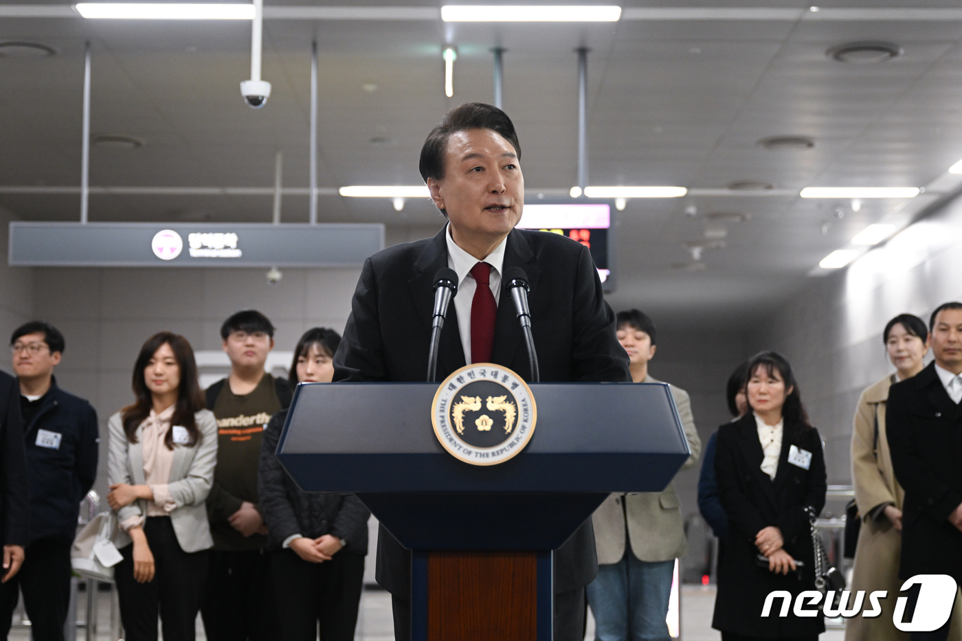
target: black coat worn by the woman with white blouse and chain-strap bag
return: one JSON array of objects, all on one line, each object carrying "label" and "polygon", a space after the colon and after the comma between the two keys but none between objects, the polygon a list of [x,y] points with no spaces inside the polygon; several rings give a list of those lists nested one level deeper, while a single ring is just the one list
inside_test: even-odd
[{"label": "black coat worn by the woman with white blouse and chain-strap bag", "polygon": [[[793,432],[797,432],[795,437]],[[788,462],[793,445],[812,453],[808,470]],[[815,557],[804,509],[814,507],[818,514],[825,504],[825,459],[818,430],[793,430],[785,425],[774,480],[762,472],[765,453],[750,412],[719,428],[716,448],[715,472],[728,529],[723,539],[724,554],[719,558],[719,591],[712,627],[770,639],[822,633],[821,614],[802,618],[790,611],[785,619],[759,616],[766,596],[773,590],[787,590],[795,597],[802,590],[814,589]],[[755,563],[755,535],[767,526],[778,527],[785,551],[805,563],[800,578],[794,572],[776,575],[768,566],[762,568]],[[781,601],[775,605],[780,606]]]}]

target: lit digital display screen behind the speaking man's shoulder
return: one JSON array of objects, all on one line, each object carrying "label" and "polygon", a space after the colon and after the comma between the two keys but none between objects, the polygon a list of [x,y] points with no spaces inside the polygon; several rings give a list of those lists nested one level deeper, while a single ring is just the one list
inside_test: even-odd
[{"label": "lit digital display screen behind the speaking man's shoulder", "polygon": [[519,229],[562,234],[585,245],[592,253],[598,276],[610,291],[612,265],[609,252],[611,205],[609,203],[525,203]]}]

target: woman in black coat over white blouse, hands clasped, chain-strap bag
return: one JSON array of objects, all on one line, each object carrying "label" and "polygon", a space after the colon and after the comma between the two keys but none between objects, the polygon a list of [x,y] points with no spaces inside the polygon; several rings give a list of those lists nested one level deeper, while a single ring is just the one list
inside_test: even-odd
[{"label": "woman in black coat over white blouse, hands clasped, chain-strap bag", "polygon": [[[715,471],[729,524],[712,627],[722,630],[722,641],[816,641],[825,629],[821,610],[809,607],[815,616],[797,617],[794,604],[799,592],[815,588],[806,508],[818,514],[825,502],[822,439],[783,356],[763,351],[748,372],[751,411],[718,433]],[[775,600],[763,618],[775,590],[791,593],[793,607],[779,617],[782,600]]]}]

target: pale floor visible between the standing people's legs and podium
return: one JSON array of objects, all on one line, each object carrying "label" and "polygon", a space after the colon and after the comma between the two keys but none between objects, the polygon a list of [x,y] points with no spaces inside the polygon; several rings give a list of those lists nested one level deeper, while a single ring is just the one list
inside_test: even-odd
[{"label": "pale floor visible between the standing people's legs and podium", "polygon": [[[95,641],[115,641],[111,638],[111,594],[100,592],[98,595],[97,633]],[[713,586],[685,585],[681,592],[681,638],[684,641],[720,641],[718,630],[712,629],[712,610],[715,606]],[[79,595],[78,619],[85,617],[84,594]],[[16,619],[14,618],[14,621]],[[392,641],[393,626],[391,619],[391,596],[380,590],[367,590],[361,599],[358,616],[357,641]],[[842,629],[830,629],[820,641],[843,641]],[[29,641],[29,628],[16,627],[8,637],[10,641]],[[77,628],[76,639],[85,638],[85,628]],[[589,616],[588,641],[595,638],[595,622]],[[204,641],[204,628],[197,619],[197,641]],[[67,641],[70,641],[69,639]]]}]

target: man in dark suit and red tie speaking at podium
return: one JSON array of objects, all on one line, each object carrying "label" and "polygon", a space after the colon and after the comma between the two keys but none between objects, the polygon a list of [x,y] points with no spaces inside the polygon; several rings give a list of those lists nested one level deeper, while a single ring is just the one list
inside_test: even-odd
[{"label": "man in dark suit and red tie speaking at podium", "polygon": [[[432,239],[398,244],[367,259],[334,358],[334,380],[424,380],[434,278],[444,268],[457,273],[458,289],[443,326],[437,378],[487,362],[530,380],[515,307],[501,288],[505,270],[520,268],[530,285],[542,381],[631,381],[588,248],[558,234],[515,229],[524,206],[520,156],[514,124],[491,105],[461,105],[431,131],[421,148],[420,173],[447,223]],[[584,588],[597,574],[591,519],[554,559],[555,639],[580,641]],[[392,593],[394,637],[406,641],[411,552],[384,526],[376,577]]]}]

